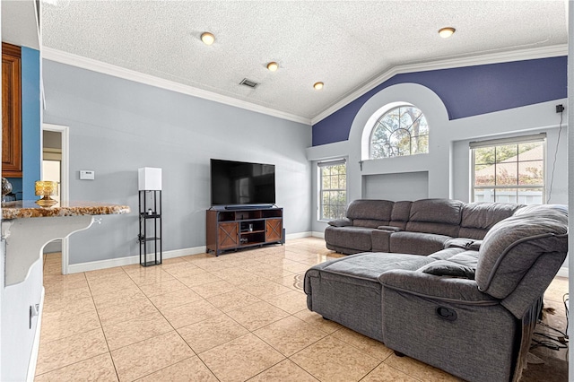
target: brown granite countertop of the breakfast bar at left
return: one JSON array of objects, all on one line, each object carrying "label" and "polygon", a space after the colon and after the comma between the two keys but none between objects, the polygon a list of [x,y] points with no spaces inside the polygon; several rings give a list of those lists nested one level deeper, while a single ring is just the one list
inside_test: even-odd
[{"label": "brown granite countertop of the breakfast bar at left", "polygon": [[111,215],[129,213],[127,205],[95,202],[62,202],[41,207],[33,200],[2,204],[2,219],[49,218],[56,216]]}]

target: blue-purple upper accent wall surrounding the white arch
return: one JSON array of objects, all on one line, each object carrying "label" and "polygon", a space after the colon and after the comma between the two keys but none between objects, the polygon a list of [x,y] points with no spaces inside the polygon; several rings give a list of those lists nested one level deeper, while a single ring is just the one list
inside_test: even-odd
[{"label": "blue-purple upper accent wall surrounding the white arch", "polygon": [[364,103],[397,83],[418,83],[437,93],[449,119],[566,98],[567,61],[567,56],[560,56],[396,74],[313,125],[313,146],[348,140],[352,121]]}]

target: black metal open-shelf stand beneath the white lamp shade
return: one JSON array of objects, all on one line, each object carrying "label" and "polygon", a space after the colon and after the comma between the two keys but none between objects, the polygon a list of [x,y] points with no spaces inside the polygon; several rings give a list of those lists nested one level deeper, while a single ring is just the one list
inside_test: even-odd
[{"label": "black metal open-shelf stand beneath the white lamp shade", "polygon": [[140,265],[161,264],[161,190],[140,190]]}]

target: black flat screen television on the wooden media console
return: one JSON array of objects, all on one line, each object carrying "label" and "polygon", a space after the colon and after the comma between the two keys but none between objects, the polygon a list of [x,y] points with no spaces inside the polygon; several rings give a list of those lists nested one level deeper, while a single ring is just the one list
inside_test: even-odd
[{"label": "black flat screen television on the wooden media console", "polygon": [[211,160],[212,205],[275,204],[275,166]]}]

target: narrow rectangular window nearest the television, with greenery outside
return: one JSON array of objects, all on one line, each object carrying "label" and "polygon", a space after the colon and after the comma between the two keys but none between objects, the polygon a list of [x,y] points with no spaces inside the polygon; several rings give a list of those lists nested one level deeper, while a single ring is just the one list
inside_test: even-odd
[{"label": "narrow rectangular window nearest the television, with greenery outside", "polygon": [[319,220],[344,218],[347,206],[347,165],[345,161],[318,164],[321,190]]}]

